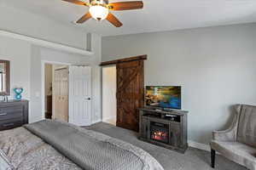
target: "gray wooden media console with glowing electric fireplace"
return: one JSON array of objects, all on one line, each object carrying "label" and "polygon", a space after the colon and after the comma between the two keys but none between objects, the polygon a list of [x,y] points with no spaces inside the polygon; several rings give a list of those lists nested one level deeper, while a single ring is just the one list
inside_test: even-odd
[{"label": "gray wooden media console with glowing electric fireplace", "polygon": [[184,153],[188,148],[188,111],[140,110],[139,139]]}]

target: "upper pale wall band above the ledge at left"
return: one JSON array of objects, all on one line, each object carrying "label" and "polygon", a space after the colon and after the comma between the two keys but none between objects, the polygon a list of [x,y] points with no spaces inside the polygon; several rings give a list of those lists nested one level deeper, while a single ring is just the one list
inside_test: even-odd
[{"label": "upper pale wall band above the ledge at left", "polygon": [[86,48],[86,32],[0,1],[0,30],[12,31],[75,48]]}]

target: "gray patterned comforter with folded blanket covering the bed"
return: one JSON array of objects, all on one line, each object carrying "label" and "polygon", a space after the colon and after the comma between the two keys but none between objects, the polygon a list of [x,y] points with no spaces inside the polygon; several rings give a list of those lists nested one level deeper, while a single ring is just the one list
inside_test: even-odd
[{"label": "gray patterned comforter with folded blanket covering the bed", "polygon": [[[8,138],[3,139],[3,136]],[[152,156],[132,144],[69,123],[50,120],[0,132],[0,149],[15,169],[21,170],[163,169]]]}]

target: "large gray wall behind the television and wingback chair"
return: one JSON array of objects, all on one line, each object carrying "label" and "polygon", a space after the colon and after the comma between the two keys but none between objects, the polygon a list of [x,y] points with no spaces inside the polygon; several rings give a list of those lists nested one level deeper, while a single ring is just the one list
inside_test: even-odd
[{"label": "large gray wall behind the television and wingback chair", "polygon": [[148,54],[145,85],[181,85],[189,139],[207,144],[231,105],[256,105],[256,24],[102,38],[102,61]]}]

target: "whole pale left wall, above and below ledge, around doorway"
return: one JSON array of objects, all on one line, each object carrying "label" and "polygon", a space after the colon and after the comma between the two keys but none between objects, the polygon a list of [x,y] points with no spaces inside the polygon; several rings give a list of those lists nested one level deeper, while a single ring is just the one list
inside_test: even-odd
[{"label": "whole pale left wall, above and below ledge, around doorway", "polygon": [[44,107],[42,101],[43,60],[92,66],[92,121],[101,120],[101,68],[98,66],[102,54],[101,37],[93,34],[91,44],[86,44],[87,32],[78,27],[64,26],[55,20],[6,5],[3,1],[0,1],[0,16],[0,30],[58,42],[75,48],[91,47],[94,52],[92,56],[68,54],[0,36],[0,59],[11,61],[11,88],[22,86],[25,88],[24,99],[30,100],[29,122],[36,122],[44,116],[42,113],[42,107]]}]

